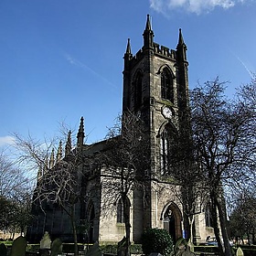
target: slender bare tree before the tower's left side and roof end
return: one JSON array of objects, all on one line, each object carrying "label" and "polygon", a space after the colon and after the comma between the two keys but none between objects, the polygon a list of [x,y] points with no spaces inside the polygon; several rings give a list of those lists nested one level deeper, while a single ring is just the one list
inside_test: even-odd
[{"label": "slender bare tree before the tower's left side and roof end", "polygon": [[103,177],[101,186],[109,202],[123,206],[125,224],[125,255],[129,255],[130,245],[130,203],[133,189],[144,189],[149,168],[149,140],[142,120],[131,112],[124,112],[118,123],[107,136],[107,150],[101,153]]}]

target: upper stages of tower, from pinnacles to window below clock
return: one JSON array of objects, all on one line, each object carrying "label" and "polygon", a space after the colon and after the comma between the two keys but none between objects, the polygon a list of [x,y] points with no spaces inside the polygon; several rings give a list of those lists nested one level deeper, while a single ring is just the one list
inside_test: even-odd
[{"label": "upper stages of tower, from pinnacles to window below clock", "polygon": [[130,39],[124,53],[123,112],[144,120],[151,140],[151,175],[161,176],[171,133],[182,128],[188,106],[187,46],[181,29],[176,49],[155,43],[149,15],[143,37],[144,45],[135,55]]}]

